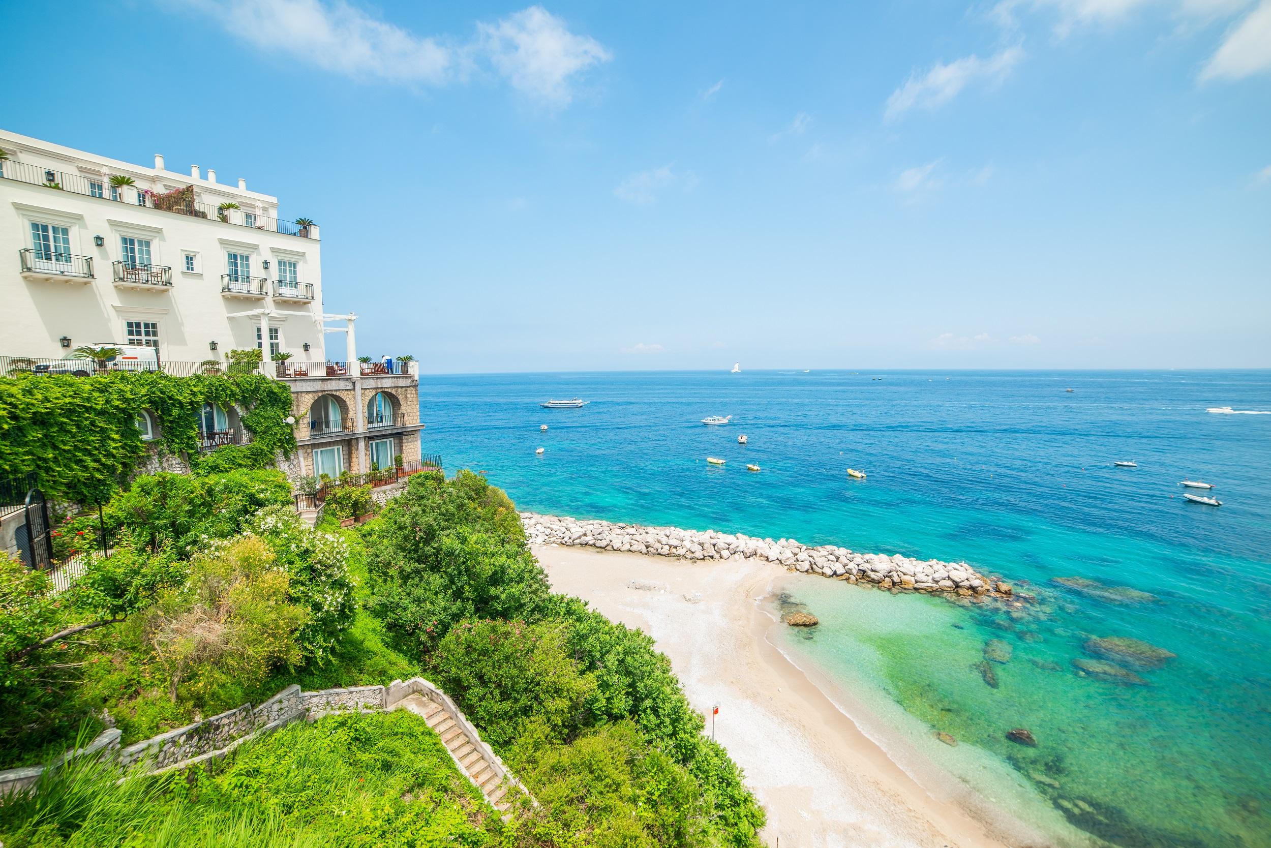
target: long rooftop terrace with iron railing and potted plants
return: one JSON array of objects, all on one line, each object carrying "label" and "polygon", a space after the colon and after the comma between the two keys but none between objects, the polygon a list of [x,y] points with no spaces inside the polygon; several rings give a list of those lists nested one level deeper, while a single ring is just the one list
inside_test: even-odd
[{"label": "long rooftop terrace with iron railing and potted plants", "polygon": [[[311,224],[287,221],[280,217],[257,215],[250,210],[225,207],[212,203],[203,203],[194,200],[194,187],[184,186],[170,192],[153,192],[139,186],[111,186],[108,178],[93,178],[84,174],[70,174],[50,168],[41,168],[25,161],[5,161],[0,170],[0,179],[11,179],[29,186],[39,186],[50,191],[70,192],[85,197],[97,197],[108,203],[127,203],[130,206],[142,206],[145,209],[186,215],[188,217],[202,217],[210,221],[233,224],[235,226],[249,226],[267,233],[281,233],[295,235],[302,239],[316,239],[318,228]],[[114,195],[112,196],[112,189]]]}]

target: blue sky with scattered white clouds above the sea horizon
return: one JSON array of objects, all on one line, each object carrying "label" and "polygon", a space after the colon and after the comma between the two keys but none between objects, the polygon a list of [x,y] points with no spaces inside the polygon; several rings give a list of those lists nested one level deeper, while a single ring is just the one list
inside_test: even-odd
[{"label": "blue sky with scattered white clouds above the sea horizon", "polygon": [[1271,0],[10,5],[0,123],[277,195],[366,353],[1271,366]]}]

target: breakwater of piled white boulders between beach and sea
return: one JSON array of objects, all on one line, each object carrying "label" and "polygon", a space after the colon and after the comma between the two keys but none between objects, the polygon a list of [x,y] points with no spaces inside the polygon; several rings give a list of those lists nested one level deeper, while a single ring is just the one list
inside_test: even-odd
[{"label": "breakwater of piled white boulders between beach and sea", "polygon": [[535,512],[521,512],[521,524],[530,544],[535,545],[590,547],[681,559],[746,557],[773,562],[789,571],[854,584],[873,584],[880,589],[948,592],[962,598],[1012,594],[1010,586],[984,577],[965,562],[859,553],[831,544],[810,548],[793,539],[756,539],[716,530],[580,521]]}]

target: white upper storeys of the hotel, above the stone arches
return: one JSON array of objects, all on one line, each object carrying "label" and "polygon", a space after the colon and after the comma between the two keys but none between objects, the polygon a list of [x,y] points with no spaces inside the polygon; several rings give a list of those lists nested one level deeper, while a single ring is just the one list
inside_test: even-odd
[{"label": "white upper storeys of the hotel, above the stone arches", "polygon": [[0,357],[113,343],[193,366],[250,347],[327,360],[319,228],[278,219],[277,197],[161,155],[146,168],[4,130],[0,150]]}]

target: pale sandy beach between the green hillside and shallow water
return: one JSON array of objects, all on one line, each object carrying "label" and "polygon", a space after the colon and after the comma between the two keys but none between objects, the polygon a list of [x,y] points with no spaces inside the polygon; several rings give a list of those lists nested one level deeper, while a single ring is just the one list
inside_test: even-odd
[{"label": "pale sandy beach between the green hillside and shallow water", "polygon": [[768,811],[768,844],[1052,844],[934,767],[919,776],[906,756],[902,769],[783,656],[769,632],[785,624],[759,603],[791,578],[779,566],[552,545],[534,553],[557,591],[656,639],[708,732],[719,704],[716,737]]}]

